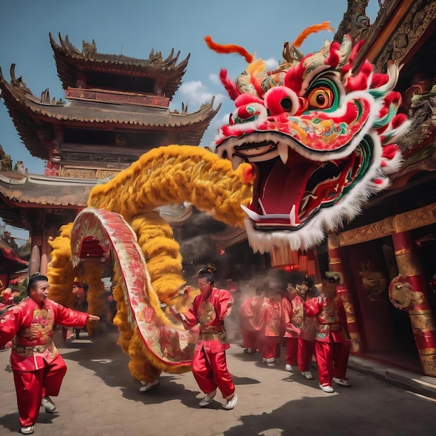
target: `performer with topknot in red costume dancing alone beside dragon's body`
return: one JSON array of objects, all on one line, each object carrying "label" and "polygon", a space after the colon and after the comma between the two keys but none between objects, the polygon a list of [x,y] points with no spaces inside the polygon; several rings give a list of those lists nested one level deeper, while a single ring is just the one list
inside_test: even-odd
[{"label": "performer with topknot in red costume dancing alone beside dragon's body", "polygon": [[206,265],[198,271],[200,294],[194,298],[191,309],[179,313],[171,307],[173,315],[186,329],[199,325],[200,334],[192,359],[192,373],[198,387],[206,394],[200,401],[200,407],[207,407],[217,394],[217,388],[227,400],[224,409],[233,409],[238,396],[235,394],[231,374],[226,363],[226,350],[230,347],[224,318],[231,312],[233,297],[228,290],[213,287],[215,265]]}]

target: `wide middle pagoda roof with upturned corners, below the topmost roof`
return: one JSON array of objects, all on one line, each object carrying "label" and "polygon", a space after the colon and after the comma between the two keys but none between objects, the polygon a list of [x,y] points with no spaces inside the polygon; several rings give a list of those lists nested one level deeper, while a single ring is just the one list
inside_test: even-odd
[{"label": "wide middle pagoda roof with upturned corners, below the topmost roof", "polygon": [[0,68],[0,90],[26,148],[31,155],[40,159],[49,159],[49,150],[44,141],[47,140],[47,135],[52,134],[55,124],[68,124],[84,129],[109,127],[126,131],[146,130],[163,133],[177,128],[180,144],[196,146],[200,143],[210,120],[221,107],[219,104],[217,109],[213,109],[214,98],[192,114],[179,114],[159,107],[95,100],[45,101],[34,96],[21,77],[15,79],[14,64],[11,66],[10,84],[4,79]]}]

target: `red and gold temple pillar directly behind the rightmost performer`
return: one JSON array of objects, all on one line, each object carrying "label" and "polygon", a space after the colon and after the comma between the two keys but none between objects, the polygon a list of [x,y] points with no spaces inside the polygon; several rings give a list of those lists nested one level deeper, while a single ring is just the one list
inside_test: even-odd
[{"label": "red and gold temple pillar directly behind the rightmost performer", "polygon": [[336,295],[338,295],[338,297],[341,297],[343,301],[343,306],[345,307],[345,312],[347,314],[348,333],[350,334],[350,338],[351,338],[351,351],[360,352],[361,336],[359,332],[359,325],[357,323],[355,306],[352,302],[352,297],[350,295],[350,292],[348,291],[347,279],[343,268],[341,251],[339,249],[338,235],[336,234],[329,235],[328,249],[329,249],[329,270],[341,272],[343,275],[343,284],[342,286],[336,287]]}]

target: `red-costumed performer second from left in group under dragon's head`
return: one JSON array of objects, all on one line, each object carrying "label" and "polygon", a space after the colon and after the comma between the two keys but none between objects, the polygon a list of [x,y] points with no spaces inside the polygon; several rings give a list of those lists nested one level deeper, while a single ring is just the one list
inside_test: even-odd
[{"label": "red-costumed performer second from left in group under dragon's head", "polygon": [[261,332],[262,361],[275,366],[280,361],[281,347],[281,294],[270,288],[262,305],[258,329]]}]

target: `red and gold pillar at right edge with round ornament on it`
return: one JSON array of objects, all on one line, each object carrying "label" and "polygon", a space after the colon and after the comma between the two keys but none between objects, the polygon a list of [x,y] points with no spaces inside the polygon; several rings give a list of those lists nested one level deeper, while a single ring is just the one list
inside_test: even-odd
[{"label": "red and gold pillar at right edge with round ornament on it", "polygon": [[436,376],[436,332],[428,290],[423,278],[418,256],[412,249],[413,241],[410,232],[398,232],[392,235],[398,271],[408,281],[415,292],[423,295],[423,302],[415,304],[409,311],[410,323],[418,348],[421,366],[426,375]]}]

